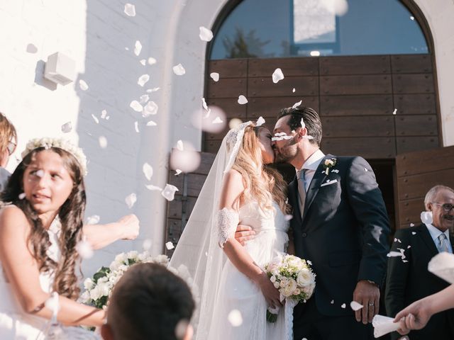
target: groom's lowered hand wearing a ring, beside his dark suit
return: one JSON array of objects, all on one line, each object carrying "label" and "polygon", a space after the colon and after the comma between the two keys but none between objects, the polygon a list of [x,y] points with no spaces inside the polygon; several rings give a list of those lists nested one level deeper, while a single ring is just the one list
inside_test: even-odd
[{"label": "groom's lowered hand wearing a ring, beside his dark suit", "polygon": [[372,322],[372,319],[379,312],[380,288],[375,283],[367,280],[359,280],[353,291],[353,301],[360,303],[363,307],[355,311],[356,321],[363,324]]}]

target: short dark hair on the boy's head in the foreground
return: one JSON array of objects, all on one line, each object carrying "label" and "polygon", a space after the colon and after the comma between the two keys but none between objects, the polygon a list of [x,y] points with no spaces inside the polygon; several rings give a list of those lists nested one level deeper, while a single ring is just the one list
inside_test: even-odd
[{"label": "short dark hair on the boy's head in the foreground", "polygon": [[107,324],[115,339],[176,340],[179,322],[188,322],[194,299],[187,283],[157,263],[138,263],[115,285]]}]

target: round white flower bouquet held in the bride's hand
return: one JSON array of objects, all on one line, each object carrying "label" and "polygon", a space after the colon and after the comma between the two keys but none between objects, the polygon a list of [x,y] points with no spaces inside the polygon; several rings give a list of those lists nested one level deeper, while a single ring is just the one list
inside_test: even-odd
[{"label": "round white flower bouquet held in the bride's hand", "polygon": [[[314,293],[315,274],[311,262],[294,255],[276,256],[265,266],[265,271],[275,288],[279,290],[281,301],[284,298],[300,302],[309,299]],[[267,321],[276,322],[279,309],[267,310]]]}]

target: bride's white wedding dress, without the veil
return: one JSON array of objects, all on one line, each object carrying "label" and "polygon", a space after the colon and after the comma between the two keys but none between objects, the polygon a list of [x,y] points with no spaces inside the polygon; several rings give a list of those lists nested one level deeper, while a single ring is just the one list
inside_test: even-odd
[{"label": "bride's white wedding dress, without the veil", "polygon": [[[289,241],[289,223],[277,204],[274,208],[274,212],[265,213],[257,202],[252,201],[243,205],[238,213],[240,224],[250,225],[256,233],[254,239],[245,245],[245,250],[261,268],[284,253]],[[268,306],[260,287],[240,273],[231,261],[227,260],[223,266],[218,294],[213,303],[209,334],[206,337],[205,334],[197,334],[197,339],[292,339],[293,306],[287,304],[282,307],[277,321],[267,322]],[[235,319],[238,315],[242,319],[239,325],[236,323],[238,319]]]}]

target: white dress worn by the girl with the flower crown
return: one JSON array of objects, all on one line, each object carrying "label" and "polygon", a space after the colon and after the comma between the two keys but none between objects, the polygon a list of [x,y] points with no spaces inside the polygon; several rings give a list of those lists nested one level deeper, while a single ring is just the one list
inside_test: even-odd
[{"label": "white dress worn by the girl with the flower crown", "polygon": [[[56,218],[48,230],[51,243],[48,248],[48,256],[54,261],[60,259],[58,247],[60,226],[60,221]],[[53,280],[54,278],[50,273],[40,273],[40,285],[45,292],[50,293],[52,291]],[[0,339],[44,339],[42,331],[48,322],[48,319],[36,317],[23,311],[11,284],[6,280],[0,262]]]}]

